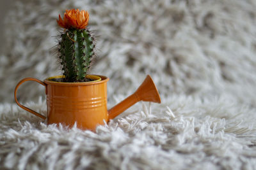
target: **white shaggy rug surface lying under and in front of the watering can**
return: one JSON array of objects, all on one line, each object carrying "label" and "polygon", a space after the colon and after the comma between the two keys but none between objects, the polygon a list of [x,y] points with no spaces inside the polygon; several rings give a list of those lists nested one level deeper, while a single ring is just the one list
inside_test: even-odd
[{"label": "white shaggy rug surface lying under and in front of the watering can", "polygon": [[[42,102],[28,106],[38,111]],[[255,169],[255,110],[172,96],[143,103],[97,132],[45,125],[0,106],[1,166],[8,169]]]}]

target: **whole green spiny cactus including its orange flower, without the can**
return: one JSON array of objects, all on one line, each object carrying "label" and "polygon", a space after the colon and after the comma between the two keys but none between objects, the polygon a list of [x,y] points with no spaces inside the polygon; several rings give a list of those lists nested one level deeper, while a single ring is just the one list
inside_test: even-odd
[{"label": "whole green spiny cactus including its orange flower, without the can", "polygon": [[86,74],[95,56],[94,38],[86,29],[89,14],[87,11],[66,10],[64,19],[59,15],[58,25],[65,30],[59,41],[60,64],[65,81],[88,81]]}]

